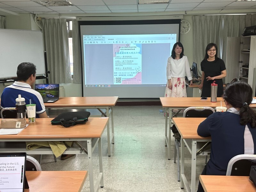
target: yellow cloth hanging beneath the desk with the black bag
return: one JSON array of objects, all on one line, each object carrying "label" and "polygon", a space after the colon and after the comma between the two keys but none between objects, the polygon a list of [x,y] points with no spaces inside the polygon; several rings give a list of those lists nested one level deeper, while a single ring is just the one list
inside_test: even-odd
[{"label": "yellow cloth hanging beneath the desk with the black bag", "polygon": [[40,147],[50,147],[53,154],[58,157],[64,153],[67,147],[72,146],[73,141],[26,141],[27,150],[34,150]]}]

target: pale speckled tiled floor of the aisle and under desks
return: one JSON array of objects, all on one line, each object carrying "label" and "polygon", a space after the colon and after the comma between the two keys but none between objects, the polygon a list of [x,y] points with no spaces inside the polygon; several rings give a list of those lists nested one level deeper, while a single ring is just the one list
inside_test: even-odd
[{"label": "pale speckled tiled floor of the aisle and under desks", "polygon": [[[111,156],[108,157],[107,130],[105,130],[102,136],[104,188],[99,187],[99,192],[186,191],[185,188],[180,189],[180,182],[177,181],[177,165],[173,163],[174,138],[171,145],[171,160],[167,159],[167,147],[164,146],[164,113],[160,113],[159,109],[163,108],[161,106],[114,107],[115,144],[111,144]],[[95,148],[92,158],[95,183],[99,172],[98,148]],[[57,159],[55,163],[53,156],[44,155],[42,170],[88,170],[87,155],[76,155],[63,161],[60,157]],[[204,162],[204,156],[197,157],[196,186]],[[185,174],[189,181],[191,156],[187,149]],[[82,191],[90,191],[89,176]]]}]

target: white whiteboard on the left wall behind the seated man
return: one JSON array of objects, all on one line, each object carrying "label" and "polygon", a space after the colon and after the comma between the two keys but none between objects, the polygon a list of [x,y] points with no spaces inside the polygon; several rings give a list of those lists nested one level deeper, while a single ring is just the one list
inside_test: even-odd
[{"label": "white whiteboard on the left wall behind the seated man", "polygon": [[41,31],[0,29],[0,79],[16,77],[22,62],[36,65],[36,75],[45,74]]}]

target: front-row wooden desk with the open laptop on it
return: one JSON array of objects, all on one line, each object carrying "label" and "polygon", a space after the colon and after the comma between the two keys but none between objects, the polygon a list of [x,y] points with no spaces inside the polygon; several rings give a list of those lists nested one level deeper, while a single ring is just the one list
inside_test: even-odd
[{"label": "front-row wooden desk with the open laptop on it", "polygon": [[[101,116],[109,117],[109,111],[111,113],[111,128],[112,135],[110,139],[109,122],[107,124],[108,133],[108,156],[111,156],[110,143],[115,143],[114,137],[114,116],[113,107],[116,105],[118,97],[60,97],[60,99],[54,103],[44,103],[45,108],[95,108],[101,112]],[[104,114],[100,108],[106,109]],[[110,109],[110,110],[109,110]]]}]

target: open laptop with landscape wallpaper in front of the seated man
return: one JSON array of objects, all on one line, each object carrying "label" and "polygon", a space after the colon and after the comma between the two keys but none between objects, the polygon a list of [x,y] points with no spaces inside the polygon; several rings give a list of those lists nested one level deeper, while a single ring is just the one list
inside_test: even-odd
[{"label": "open laptop with landscape wallpaper in front of the seated man", "polygon": [[60,84],[35,84],[35,90],[42,95],[44,103],[59,100]]}]

